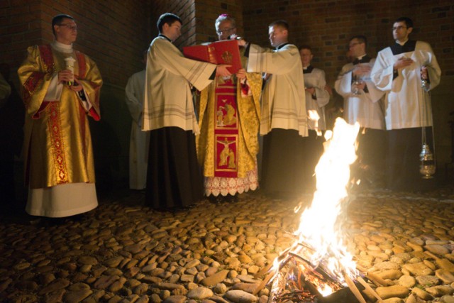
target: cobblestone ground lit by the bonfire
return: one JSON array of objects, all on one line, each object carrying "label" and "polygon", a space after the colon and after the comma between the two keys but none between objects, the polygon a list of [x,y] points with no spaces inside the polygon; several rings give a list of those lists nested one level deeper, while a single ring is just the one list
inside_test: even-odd
[{"label": "cobblestone ground lit by the bonfire", "polygon": [[[345,242],[384,302],[454,302],[453,188],[350,197]],[[294,207],[310,200],[258,192],[172,213],[125,192],[57,223],[1,214],[0,301],[268,302],[256,274],[294,243]]]}]

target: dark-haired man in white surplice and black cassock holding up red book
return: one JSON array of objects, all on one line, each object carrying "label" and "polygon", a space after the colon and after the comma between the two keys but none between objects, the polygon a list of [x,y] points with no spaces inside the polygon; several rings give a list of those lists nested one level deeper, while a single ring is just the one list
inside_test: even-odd
[{"label": "dark-haired man in white surplice and black cassock holding up red book", "polygon": [[182,20],[164,13],[158,35],[150,44],[145,75],[143,131],[150,131],[145,202],[155,209],[190,206],[203,197],[196,158],[199,133],[192,87],[202,90],[216,75],[228,76],[226,65],[187,59],[173,45]]}]

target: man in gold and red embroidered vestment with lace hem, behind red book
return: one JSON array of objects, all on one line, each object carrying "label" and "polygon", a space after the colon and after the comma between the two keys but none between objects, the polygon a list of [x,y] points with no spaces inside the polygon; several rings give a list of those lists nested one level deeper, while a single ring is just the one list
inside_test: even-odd
[{"label": "man in gold and red embroidered vestment with lace hem, behind red book", "polygon": [[[219,16],[215,26],[218,40],[236,37],[235,19],[228,14]],[[243,53],[240,48],[245,67]],[[216,77],[200,94],[197,156],[203,166],[204,194],[213,202],[234,201],[237,194],[258,188],[262,78],[243,67],[235,75]]]}]

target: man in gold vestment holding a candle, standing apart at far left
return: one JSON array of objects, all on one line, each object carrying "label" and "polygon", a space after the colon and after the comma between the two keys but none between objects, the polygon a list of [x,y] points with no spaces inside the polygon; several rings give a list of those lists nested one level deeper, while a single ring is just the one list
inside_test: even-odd
[{"label": "man in gold vestment holding a candle, standing apart at far left", "polygon": [[26,104],[26,211],[58,218],[98,205],[88,117],[100,119],[102,79],[96,63],[72,48],[72,16],[52,18],[52,31],[52,43],[28,48],[18,76]]}]

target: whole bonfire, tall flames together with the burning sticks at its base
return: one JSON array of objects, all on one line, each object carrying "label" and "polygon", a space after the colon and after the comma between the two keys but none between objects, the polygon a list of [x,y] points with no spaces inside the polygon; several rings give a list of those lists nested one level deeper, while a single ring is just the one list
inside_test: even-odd
[{"label": "whole bonfire, tall flames together with the burning sticks at its base", "polygon": [[275,287],[282,287],[282,281],[277,280],[284,276],[279,271],[289,260],[297,262],[292,263],[287,278],[293,275],[293,279],[299,280],[301,277],[294,276],[302,276],[302,280],[309,282],[309,290],[315,287],[314,292],[323,297],[343,287],[352,288],[353,280],[360,275],[341,234],[343,202],[348,197],[350,165],[356,160],[355,140],[359,129],[358,123],[352,126],[343,119],[336,120],[333,136],[324,143],[325,152],[316,166],[314,199],[301,214],[299,228],[294,233],[297,241],[273,264],[272,292]]}]

